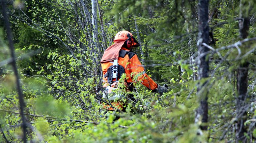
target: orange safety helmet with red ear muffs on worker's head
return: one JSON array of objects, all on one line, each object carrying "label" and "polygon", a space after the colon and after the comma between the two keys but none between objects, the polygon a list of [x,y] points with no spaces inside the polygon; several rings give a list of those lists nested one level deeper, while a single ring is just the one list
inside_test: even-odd
[{"label": "orange safety helmet with red ear muffs on worker's head", "polygon": [[126,30],[119,31],[116,34],[114,42],[116,42],[118,40],[131,40],[132,41],[132,46],[134,46],[134,47],[140,46],[139,42],[137,42],[135,40],[135,38],[132,36],[132,34],[129,31],[126,31]]}]

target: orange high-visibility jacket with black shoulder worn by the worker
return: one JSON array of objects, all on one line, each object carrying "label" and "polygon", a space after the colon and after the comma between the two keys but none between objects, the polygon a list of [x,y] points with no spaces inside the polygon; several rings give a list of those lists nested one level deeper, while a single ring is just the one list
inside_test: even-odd
[{"label": "orange high-visibility jacket with black shoulder worn by the worker", "polygon": [[[125,51],[121,51],[125,50]],[[120,52],[119,52],[119,57],[118,57],[118,64],[122,65],[125,68],[125,73],[126,73],[126,79],[128,83],[134,82],[133,77],[134,75],[139,74],[140,76],[137,79],[138,81],[141,81],[141,83],[146,86],[150,90],[155,90],[157,88],[157,84],[154,80],[152,80],[144,71],[144,67],[140,63],[138,56],[131,52],[130,50],[122,47],[121,52],[127,52],[124,57],[122,57]],[[107,73],[108,67],[113,65],[113,61],[101,63],[102,71],[103,71],[103,83],[107,82],[107,77],[104,77],[104,75]],[[131,74],[132,73],[132,74]],[[136,82],[136,81],[135,81]]]}]

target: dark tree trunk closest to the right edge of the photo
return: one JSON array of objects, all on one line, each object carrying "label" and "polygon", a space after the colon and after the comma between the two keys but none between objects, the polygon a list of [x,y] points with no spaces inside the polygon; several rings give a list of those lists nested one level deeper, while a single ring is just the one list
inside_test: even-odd
[{"label": "dark tree trunk closest to the right edge of the photo", "polygon": [[[239,32],[240,38],[245,39],[248,36],[250,19],[248,17],[243,18],[239,21]],[[249,63],[241,63],[237,70],[237,117],[238,122],[236,125],[236,139],[237,141],[243,141],[245,139],[244,133],[246,129],[244,127],[244,122],[246,120],[246,109],[243,108],[245,105],[245,100],[247,96],[247,87],[248,87],[248,66]]]}]

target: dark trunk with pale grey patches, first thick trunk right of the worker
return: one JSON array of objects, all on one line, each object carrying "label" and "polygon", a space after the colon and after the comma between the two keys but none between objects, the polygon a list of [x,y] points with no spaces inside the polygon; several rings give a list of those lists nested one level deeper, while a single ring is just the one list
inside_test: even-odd
[{"label": "dark trunk with pale grey patches, first thick trunk right of the worker", "polygon": [[[209,72],[209,62],[203,53],[208,51],[208,48],[202,43],[208,44],[209,41],[209,25],[208,25],[208,6],[209,0],[199,0],[198,1],[198,80],[202,80],[208,77]],[[208,121],[208,103],[207,103],[207,89],[203,88],[205,85],[202,84],[198,87],[197,96],[200,101],[200,106],[196,111],[195,122],[201,121],[202,123],[207,123]],[[200,126],[202,130],[207,130],[206,125]]]}]

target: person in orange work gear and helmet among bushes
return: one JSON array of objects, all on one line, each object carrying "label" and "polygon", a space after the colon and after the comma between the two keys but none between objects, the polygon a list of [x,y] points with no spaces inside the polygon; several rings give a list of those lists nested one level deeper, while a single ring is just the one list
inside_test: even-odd
[{"label": "person in orange work gear and helmet among bushes", "polygon": [[[132,83],[136,82],[133,77],[138,76],[137,82],[141,81],[141,84],[146,86],[149,90],[153,92],[158,92],[162,95],[167,92],[167,88],[160,86],[154,80],[152,80],[144,71],[144,67],[140,63],[138,56],[132,52],[132,47],[140,46],[140,44],[135,40],[132,34],[126,30],[120,31],[116,34],[114,39],[114,44],[109,46],[100,61],[103,71],[103,87],[105,87],[105,92],[103,93],[103,98],[108,99],[110,102],[114,101],[116,98],[122,98],[121,95],[115,95],[112,98],[107,97],[107,93],[110,93],[112,88],[118,87],[118,80],[123,73],[126,74],[125,84],[132,91]],[[137,83],[136,82],[136,83]],[[119,102],[120,103],[120,102]],[[123,110],[122,105],[117,102],[112,102],[112,105],[118,107],[118,109]],[[107,107],[108,110],[113,110],[112,107]]]}]

